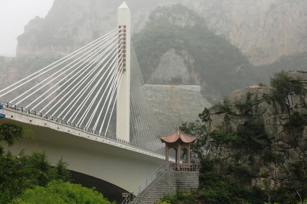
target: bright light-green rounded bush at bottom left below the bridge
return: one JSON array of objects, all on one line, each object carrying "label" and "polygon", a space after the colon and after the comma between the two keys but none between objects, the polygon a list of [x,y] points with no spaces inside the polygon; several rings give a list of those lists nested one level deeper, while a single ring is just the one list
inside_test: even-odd
[{"label": "bright light-green rounded bush at bottom left below the bridge", "polygon": [[[94,188],[85,188],[80,184],[71,184],[63,180],[53,180],[46,187],[35,186],[33,189],[27,189],[20,198],[25,204],[111,204]],[[11,204],[20,203],[20,198]]]}]

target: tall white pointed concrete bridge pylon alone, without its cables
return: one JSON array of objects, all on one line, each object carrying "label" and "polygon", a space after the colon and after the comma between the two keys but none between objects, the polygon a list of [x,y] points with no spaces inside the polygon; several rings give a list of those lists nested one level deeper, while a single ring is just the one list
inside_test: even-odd
[{"label": "tall white pointed concrete bridge pylon alone, without its cables", "polygon": [[[125,2],[118,8],[118,27],[122,28],[119,39],[119,51],[123,53],[122,83],[117,87],[118,96],[116,100],[116,137],[130,141],[130,9]],[[119,37],[119,38],[120,38]],[[124,40],[121,44],[120,42]],[[119,60],[121,61],[121,60]],[[121,68],[121,67],[119,67]],[[119,69],[120,71],[121,69]],[[119,75],[121,76],[121,75]]]}]

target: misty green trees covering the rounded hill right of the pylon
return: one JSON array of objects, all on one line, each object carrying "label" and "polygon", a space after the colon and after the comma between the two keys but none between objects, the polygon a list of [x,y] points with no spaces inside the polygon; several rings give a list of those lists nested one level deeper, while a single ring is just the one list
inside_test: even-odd
[{"label": "misty green trees covering the rounded hill right of the pylon", "polygon": [[[177,15],[182,13],[195,21],[195,25],[180,27],[170,22],[170,19],[176,22]],[[253,66],[247,57],[222,35],[208,29],[205,20],[192,10],[181,4],[158,7],[149,19],[146,26],[133,36],[145,82],[159,65],[160,57],[170,49],[175,49],[178,54],[187,50],[195,58],[194,67],[200,85],[205,82],[212,87],[206,89],[206,95],[216,95],[216,92],[224,95],[251,82]]]}]

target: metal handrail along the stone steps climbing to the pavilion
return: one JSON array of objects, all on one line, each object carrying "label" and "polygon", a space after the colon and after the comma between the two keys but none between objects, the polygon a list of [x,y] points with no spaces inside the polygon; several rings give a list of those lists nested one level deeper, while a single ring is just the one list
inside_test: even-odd
[{"label": "metal handrail along the stone steps climbing to the pavilion", "polygon": [[[159,176],[161,172],[165,170],[165,168],[169,167],[169,165],[165,168],[164,166],[165,166],[165,163],[158,163],[158,168],[151,174],[151,176],[148,176],[146,180],[142,184],[140,184],[139,187],[135,191],[129,192],[126,198],[123,200],[122,204],[128,204],[128,202],[131,201],[131,198],[132,198],[132,201],[134,201],[134,199],[140,195],[140,193],[148,186],[148,184],[150,184],[154,179],[156,179],[157,176]],[[150,180],[150,178],[151,178],[151,181],[150,183],[148,183],[148,180]]]}]

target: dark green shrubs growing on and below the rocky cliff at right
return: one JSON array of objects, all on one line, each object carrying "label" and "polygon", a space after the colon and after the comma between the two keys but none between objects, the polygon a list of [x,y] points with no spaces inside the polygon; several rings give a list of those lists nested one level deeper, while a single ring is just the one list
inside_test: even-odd
[{"label": "dark green shrubs growing on and below the rocky cliff at right", "polygon": [[[271,77],[271,82],[278,89],[279,95],[286,103],[285,96],[287,94],[302,94],[305,92],[300,79],[293,79],[287,75],[287,72],[279,72]],[[251,94],[248,94],[247,100],[251,100]],[[245,102],[251,105],[252,101]],[[215,108],[224,111],[223,113],[231,114],[231,105],[227,103],[218,103]],[[241,104],[242,105],[242,104]],[[243,104],[244,107],[246,104]],[[251,106],[253,107],[253,106]],[[307,125],[307,114],[294,111],[290,115],[290,126],[293,128]],[[226,114],[227,116],[227,114]],[[199,114],[203,123],[210,122],[210,111],[205,108]],[[206,134],[206,127],[203,129],[203,134],[206,135],[206,141],[197,141],[202,147],[206,146],[208,141],[207,136],[214,139],[214,142],[219,144],[227,144],[231,150],[239,149],[253,153],[264,150],[264,162],[283,162],[278,160],[278,155],[270,151],[270,135],[264,126],[263,117],[259,113],[252,112],[245,114],[247,118],[243,125],[239,125],[236,131],[227,129],[222,126],[220,130]],[[228,117],[229,119],[229,117]],[[227,118],[225,117],[227,122]],[[200,132],[200,125],[190,123],[187,128],[187,123],[184,123],[184,128],[181,130],[188,134],[197,130]],[[212,140],[211,140],[212,141]],[[231,143],[231,144],[229,144]],[[219,146],[220,147],[220,146]],[[223,149],[223,147],[221,147]],[[195,148],[197,150],[197,148]],[[227,151],[227,150],[225,150]],[[238,151],[241,152],[241,151]],[[236,155],[232,155],[236,157]],[[283,168],[280,168],[282,173],[288,175],[284,185],[272,188],[269,182],[263,182],[263,185],[252,186],[247,188],[243,186],[244,180],[257,178],[259,169],[256,166],[242,165],[240,162],[227,163],[223,159],[213,156],[202,155],[200,157],[200,185],[193,193],[178,192],[175,196],[165,196],[172,204],[195,204],[195,203],[243,203],[243,204],[263,204],[263,203],[289,203],[289,204],[305,204],[307,203],[307,161],[301,159],[287,163]],[[241,161],[242,162],[242,161]],[[252,158],[250,158],[250,162]],[[243,181],[243,182],[242,182]],[[304,200],[305,199],[305,200]]]}]

